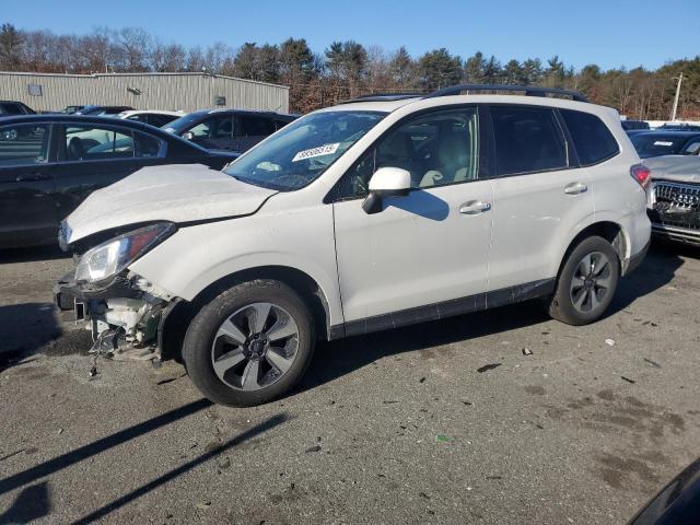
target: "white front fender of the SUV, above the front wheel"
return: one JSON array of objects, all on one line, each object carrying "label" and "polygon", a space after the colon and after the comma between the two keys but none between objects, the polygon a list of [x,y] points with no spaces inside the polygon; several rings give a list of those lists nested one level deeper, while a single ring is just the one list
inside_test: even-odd
[{"label": "white front fender of the SUV, above the front wheel", "polygon": [[129,269],[191,301],[222,278],[265,266],[306,273],[326,298],[330,324],[342,323],[330,206],[183,228]]}]

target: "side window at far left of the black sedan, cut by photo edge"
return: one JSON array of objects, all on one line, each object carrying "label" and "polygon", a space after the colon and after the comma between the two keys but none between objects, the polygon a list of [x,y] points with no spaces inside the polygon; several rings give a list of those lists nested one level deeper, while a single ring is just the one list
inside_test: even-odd
[{"label": "side window at far left of the black sedan, cut by photo edge", "polygon": [[0,166],[48,162],[48,125],[0,126]]}]

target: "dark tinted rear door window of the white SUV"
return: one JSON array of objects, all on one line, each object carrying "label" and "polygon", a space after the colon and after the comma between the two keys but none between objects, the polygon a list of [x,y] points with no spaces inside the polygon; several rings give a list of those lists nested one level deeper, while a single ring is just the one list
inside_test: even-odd
[{"label": "dark tinted rear door window of the white SUV", "polygon": [[491,119],[499,176],[569,166],[567,142],[552,109],[491,106]]}]

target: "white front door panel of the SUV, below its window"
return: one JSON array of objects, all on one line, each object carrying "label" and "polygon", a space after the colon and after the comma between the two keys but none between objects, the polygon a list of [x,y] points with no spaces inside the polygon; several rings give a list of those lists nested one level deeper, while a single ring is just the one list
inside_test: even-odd
[{"label": "white front door panel of the SUV, below its window", "polygon": [[476,180],[386,199],[375,214],[362,200],[335,203],[346,322],[486,292],[490,212],[459,209],[491,199],[491,182]]}]

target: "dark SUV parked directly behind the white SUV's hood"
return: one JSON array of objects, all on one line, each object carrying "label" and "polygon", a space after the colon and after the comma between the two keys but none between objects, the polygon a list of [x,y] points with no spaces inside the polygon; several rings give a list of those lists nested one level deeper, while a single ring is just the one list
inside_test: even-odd
[{"label": "dark SUV parked directly behind the white SUV's hood", "polygon": [[273,112],[205,109],[173,120],[163,129],[208,150],[244,152],[296,118]]}]

